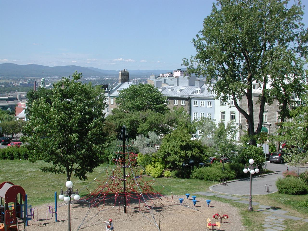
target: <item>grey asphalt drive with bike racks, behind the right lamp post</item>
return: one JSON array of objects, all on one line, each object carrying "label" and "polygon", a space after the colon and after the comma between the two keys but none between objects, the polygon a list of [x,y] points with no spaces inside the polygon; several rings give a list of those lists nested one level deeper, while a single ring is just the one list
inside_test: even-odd
[{"label": "grey asphalt drive with bike racks, behind the right lamp post", "polygon": [[[265,177],[254,177],[252,180],[252,195],[259,195],[259,194],[267,194],[265,192],[265,185],[269,184],[272,185],[272,191],[277,191],[275,181],[278,179],[278,177],[282,177],[282,172],[287,170],[286,164],[276,164],[276,163],[270,163],[269,161],[266,162],[267,169],[271,171],[275,171],[278,174],[268,175]],[[300,172],[303,172],[307,170],[308,168],[300,168]],[[289,171],[296,171],[297,168],[289,167]],[[247,173],[247,177],[249,176],[249,173]],[[212,190],[219,192],[219,193],[229,193],[233,195],[249,195],[249,184],[250,184],[250,178],[246,178],[244,180],[238,180],[234,182],[228,183],[227,186],[225,185],[216,185],[212,187]]]}]

